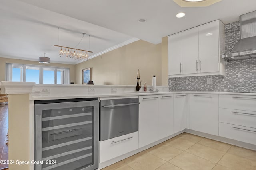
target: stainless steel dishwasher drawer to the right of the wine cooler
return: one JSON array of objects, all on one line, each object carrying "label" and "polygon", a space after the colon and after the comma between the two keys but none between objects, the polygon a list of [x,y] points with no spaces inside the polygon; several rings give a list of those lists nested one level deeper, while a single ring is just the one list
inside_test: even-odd
[{"label": "stainless steel dishwasher drawer to the right of the wine cooler", "polygon": [[138,131],[138,98],[100,100],[100,141]]}]

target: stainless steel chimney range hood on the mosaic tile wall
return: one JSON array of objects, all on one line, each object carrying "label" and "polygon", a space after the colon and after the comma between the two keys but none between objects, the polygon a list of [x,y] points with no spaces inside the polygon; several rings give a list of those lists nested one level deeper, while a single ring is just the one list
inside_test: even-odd
[{"label": "stainless steel chimney range hood on the mosaic tile wall", "polygon": [[240,40],[222,58],[226,61],[256,58],[256,11],[240,16]]}]

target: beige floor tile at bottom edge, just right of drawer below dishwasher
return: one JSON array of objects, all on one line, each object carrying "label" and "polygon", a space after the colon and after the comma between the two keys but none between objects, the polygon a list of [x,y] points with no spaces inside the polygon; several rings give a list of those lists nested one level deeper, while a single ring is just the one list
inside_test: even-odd
[{"label": "beige floor tile at bottom edge, just right of drawer below dishwasher", "polygon": [[166,161],[150,153],[146,153],[127,163],[127,165],[132,167],[134,170],[155,170],[165,163]]}]

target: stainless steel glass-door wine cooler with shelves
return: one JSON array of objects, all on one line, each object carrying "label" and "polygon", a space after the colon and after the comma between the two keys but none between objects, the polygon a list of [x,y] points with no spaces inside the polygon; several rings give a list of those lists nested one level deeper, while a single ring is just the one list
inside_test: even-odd
[{"label": "stainless steel glass-door wine cooler with shelves", "polygon": [[34,105],[35,170],[98,169],[99,100],[40,100]]}]

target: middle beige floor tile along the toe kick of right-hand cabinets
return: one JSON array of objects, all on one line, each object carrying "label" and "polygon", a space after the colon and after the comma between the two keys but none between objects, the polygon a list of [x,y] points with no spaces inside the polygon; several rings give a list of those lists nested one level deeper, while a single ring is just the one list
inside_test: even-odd
[{"label": "middle beige floor tile along the toe kick of right-hand cabinets", "polygon": [[214,148],[214,149],[224,151],[224,152],[228,151],[228,149],[230,149],[230,147],[232,146],[232,145],[227,144],[227,143],[214,141],[212,139],[207,139],[207,138],[202,139],[198,143],[202,144],[202,145],[205,145],[207,147],[211,147],[211,148]]}]

